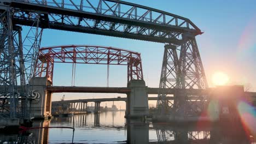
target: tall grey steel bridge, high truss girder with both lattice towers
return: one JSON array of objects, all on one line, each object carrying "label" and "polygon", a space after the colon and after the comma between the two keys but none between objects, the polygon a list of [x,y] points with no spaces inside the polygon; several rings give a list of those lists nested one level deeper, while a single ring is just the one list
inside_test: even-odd
[{"label": "tall grey steel bridge, high truss girder with both lattice towers", "polygon": [[[22,31],[22,26],[28,26],[28,31]],[[0,0],[0,94],[11,99],[11,118],[27,116],[27,101],[32,94],[35,74],[53,77],[53,70],[43,66],[45,57],[39,57],[41,65],[36,63],[46,28],[164,43],[157,103],[159,113],[200,115],[208,103],[207,96],[202,93],[194,95],[183,91],[208,88],[195,39],[202,32],[185,17],[117,0]],[[48,58],[56,60],[55,56],[62,52],[61,47],[56,48],[59,49],[56,55],[50,49],[53,47],[46,50],[50,53]],[[68,55],[65,54],[74,62]],[[46,64],[53,65],[48,58]],[[63,57],[59,61],[63,61]],[[129,73],[128,80],[133,76],[143,79],[139,70],[130,70],[132,74]],[[170,95],[163,89],[179,91]],[[166,99],[170,96],[173,100]],[[198,103],[191,103],[191,96],[196,96]],[[19,99],[22,109],[18,107]]]}]

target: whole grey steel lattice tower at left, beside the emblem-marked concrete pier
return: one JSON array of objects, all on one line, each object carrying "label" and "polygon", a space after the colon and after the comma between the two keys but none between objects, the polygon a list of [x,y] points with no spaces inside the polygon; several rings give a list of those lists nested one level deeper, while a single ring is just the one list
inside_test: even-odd
[{"label": "whole grey steel lattice tower at left, beside the emblem-marked concrete pier", "polygon": [[32,88],[27,84],[33,78],[42,29],[38,28],[40,15],[30,15],[33,26],[22,39],[21,26],[12,21],[15,14],[22,15],[11,7],[0,11],[0,96],[10,103],[10,112],[0,116],[29,119],[27,100]]}]

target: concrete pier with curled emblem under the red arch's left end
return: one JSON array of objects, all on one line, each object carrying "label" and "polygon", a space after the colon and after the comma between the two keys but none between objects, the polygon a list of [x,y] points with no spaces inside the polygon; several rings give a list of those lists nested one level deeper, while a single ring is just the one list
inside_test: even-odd
[{"label": "concrete pier with curled emblem under the red arch's left end", "polygon": [[36,119],[48,119],[51,117],[52,93],[46,90],[50,81],[46,77],[34,77],[32,85],[31,115]]}]

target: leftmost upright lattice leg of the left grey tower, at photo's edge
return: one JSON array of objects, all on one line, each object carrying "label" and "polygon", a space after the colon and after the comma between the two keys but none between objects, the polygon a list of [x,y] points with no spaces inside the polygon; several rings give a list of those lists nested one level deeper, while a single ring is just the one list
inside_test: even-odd
[{"label": "leftmost upright lattice leg of the left grey tower, at photo's edge", "polygon": [[19,71],[16,67],[16,59],[19,56],[19,49],[14,45],[14,37],[18,33],[13,32],[11,9],[7,9],[0,15],[0,21],[0,85],[3,88],[2,94],[10,98],[10,117],[16,117],[18,105],[18,95],[15,91],[18,85],[16,72]]}]

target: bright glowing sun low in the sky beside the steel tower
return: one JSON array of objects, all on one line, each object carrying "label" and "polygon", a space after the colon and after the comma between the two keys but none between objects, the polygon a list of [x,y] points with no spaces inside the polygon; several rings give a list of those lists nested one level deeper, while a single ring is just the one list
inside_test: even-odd
[{"label": "bright glowing sun low in the sky beside the steel tower", "polygon": [[226,85],[229,82],[229,76],[219,71],[213,74],[212,82],[216,86]]}]

